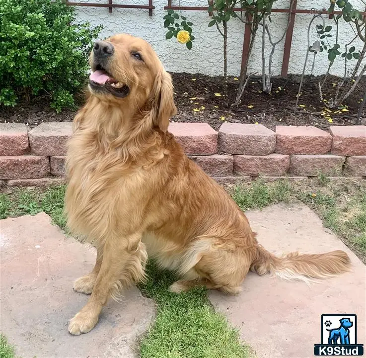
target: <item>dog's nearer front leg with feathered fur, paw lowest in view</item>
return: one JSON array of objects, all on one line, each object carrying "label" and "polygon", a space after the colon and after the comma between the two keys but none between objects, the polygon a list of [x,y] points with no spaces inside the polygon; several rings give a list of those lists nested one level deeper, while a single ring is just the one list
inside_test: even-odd
[{"label": "dog's nearer front leg with feathered fur, paw lowest in view", "polygon": [[[141,237],[142,234],[134,234],[107,240],[91,296],[86,305],[70,320],[69,333],[79,335],[94,328],[103,305],[121,279],[127,284],[133,279],[142,278],[146,255],[143,253],[145,246],[141,243]],[[130,277],[126,277],[126,274]]]}]

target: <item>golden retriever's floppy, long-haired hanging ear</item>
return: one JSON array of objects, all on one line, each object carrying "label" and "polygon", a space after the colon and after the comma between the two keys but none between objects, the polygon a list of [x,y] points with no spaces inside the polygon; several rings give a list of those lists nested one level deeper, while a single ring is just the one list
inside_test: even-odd
[{"label": "golden retriever's floppy, long-haired hanging ear", "polygon": [[155,79],[153,87],[153,124],[166,132],[169,126],[169,119],[177,113],[174,104],[174,89],[171,76],[161,69]]}]

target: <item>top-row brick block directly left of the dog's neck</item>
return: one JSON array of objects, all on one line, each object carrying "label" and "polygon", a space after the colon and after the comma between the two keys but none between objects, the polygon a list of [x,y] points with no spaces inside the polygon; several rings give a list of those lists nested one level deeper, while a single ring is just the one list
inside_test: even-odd
[{"label": "top-row brick block directly left of the dog's neck", "polygon": [[66,143],[72,135],[72,123],[42,123],[29,132],[32,154],[39,156],[66,155]]}]

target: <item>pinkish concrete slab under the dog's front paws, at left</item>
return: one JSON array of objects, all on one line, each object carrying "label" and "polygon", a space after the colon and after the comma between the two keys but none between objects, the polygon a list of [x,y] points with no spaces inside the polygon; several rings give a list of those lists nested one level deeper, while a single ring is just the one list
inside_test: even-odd
[{"label": "pinkish concrete slab under the dog's front paws, at left", "polygon": [[137,357],[139,337],[151,323],[154,302],[137,288],[122,303],[110,300],[97,326],[71,336],[68,320],[88,296],[73,280],[92,269],[95,252],[51,224],[45,213],[0,221],[0,330],[22,358]]}]

